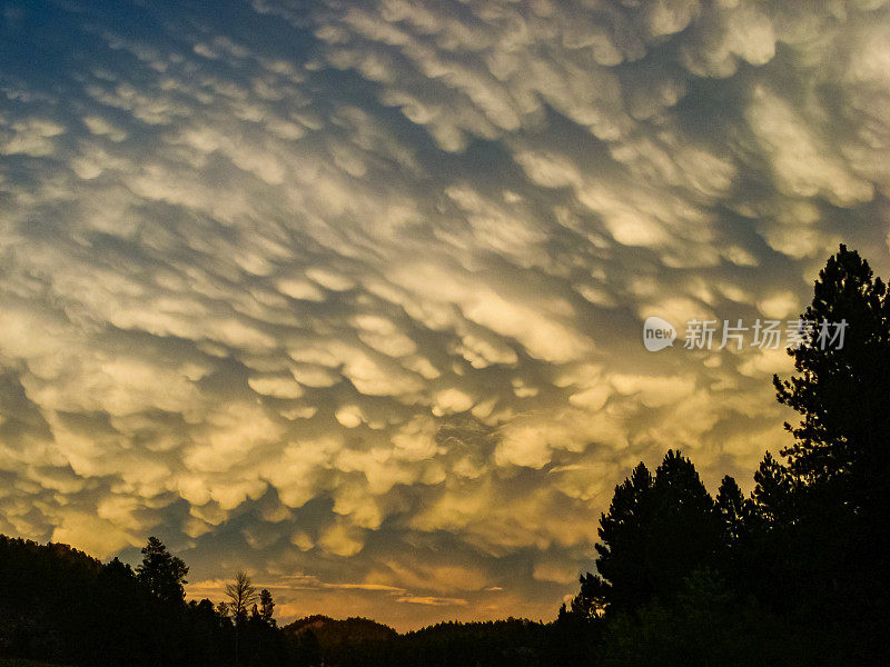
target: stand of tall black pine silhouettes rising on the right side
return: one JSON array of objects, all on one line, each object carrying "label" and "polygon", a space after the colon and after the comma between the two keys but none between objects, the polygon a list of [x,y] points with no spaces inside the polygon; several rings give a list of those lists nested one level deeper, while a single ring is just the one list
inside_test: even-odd
[{"label": "stand of tall black pine silhouettes rising on the right side", "polygon": [[743,497],[716,496],[668,451],[615,488],[596,574],[560,613],[595,644],[596,665],[872,665],[890,620],[890,293],[840,247],[801,319],[848,325],[840,348],[790,349],[773,377],[799,416]]}]

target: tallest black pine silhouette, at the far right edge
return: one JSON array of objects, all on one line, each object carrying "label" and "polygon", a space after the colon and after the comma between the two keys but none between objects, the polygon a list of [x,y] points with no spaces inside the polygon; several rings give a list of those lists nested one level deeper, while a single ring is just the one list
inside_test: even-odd
[{"label": "tallest black pine silhouette, at the far right edge", "polygon": [[[790,504],[785,518],[773,516],[795,526],[793,544],[779,546],[789,552],[801,605],[809,614],[831,608],[861,646],[890,615],[882,565],[890,550],[890,292],[841,246],[801,320],[817,335],[790,350],[797,375],[773,378],[779,401],[800,414],[785,425],[794,442],[782,452]],[[832,340],[837,325],[846,325],[842,345]],[[784,491],[789,482],[781,481]]]}]

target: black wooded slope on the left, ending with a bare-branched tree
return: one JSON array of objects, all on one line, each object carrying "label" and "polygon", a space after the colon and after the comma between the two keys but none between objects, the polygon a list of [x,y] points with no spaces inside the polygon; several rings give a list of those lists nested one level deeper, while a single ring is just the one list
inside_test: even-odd
[{"label": "black wooded slope on the left, ending with a bare-branched tree", "polygon": [[228,603],[185,600],[188,566],[156,537],[134,569],[67,545],[0,536],[0,657],[65,665],[293,663],[268,590],[244,573]]}]

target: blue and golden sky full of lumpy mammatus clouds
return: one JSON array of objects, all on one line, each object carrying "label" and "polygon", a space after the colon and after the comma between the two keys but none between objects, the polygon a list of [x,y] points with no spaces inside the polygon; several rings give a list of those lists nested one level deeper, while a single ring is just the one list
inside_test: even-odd
[{"label": "blue and golden sky full of lumpy mammatus clouds", "polygon": [[0,532],[552,619],[635,464],[789,441],[686,322],[887,276],[888,148],[879,0],[0,0]]}]

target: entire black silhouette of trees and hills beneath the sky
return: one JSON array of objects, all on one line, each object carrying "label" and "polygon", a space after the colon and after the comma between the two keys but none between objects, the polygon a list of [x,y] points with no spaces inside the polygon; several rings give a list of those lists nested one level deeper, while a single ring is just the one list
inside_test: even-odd
[{"label": "entire black silhouette of trees and hills beneath the sky", "polygon": [[[886,664],[890,615],[890,293],[840,246],[801,319],[846,321],[844,345],[790,349],[773,378],[797,411],[744,497],[716,496],[669,450],[615,487],[596,573],[550,623],[444,623],[399,635],[368,619],[285,627],[238,573],[228,604],[186,601],[186,564],[151,537],[142,563],[0,536],[0,665],[778,666]],[[220,591],[222,593],[222,591]],[[10,665],[14,663],[9,663]]]}]

